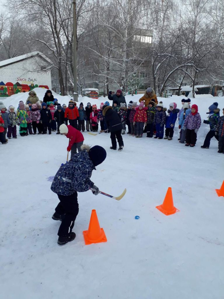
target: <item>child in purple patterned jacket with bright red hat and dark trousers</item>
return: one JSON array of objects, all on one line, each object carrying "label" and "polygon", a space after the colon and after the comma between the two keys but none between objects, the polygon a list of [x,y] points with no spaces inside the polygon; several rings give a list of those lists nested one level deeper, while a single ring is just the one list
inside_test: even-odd
[{"label": "child in purple patterned jacket with bright red hat and dark trousers", "polygon": [[185,119],[183,130],[187,129],[186,132],[186,147],[194,147],[197,141],[197,132],[201,126],[201,117],[198,113],[198,106],[192,105],[191,106],[191,113]]}]

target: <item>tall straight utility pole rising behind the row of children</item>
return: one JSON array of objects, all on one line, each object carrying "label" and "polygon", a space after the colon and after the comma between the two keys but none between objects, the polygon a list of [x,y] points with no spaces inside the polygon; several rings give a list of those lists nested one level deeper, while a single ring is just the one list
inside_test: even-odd
[{"label": "tall straight utility pole rising behind the row of children", "polygon": [[78,102],[76,47],[77,47],[77,41],[76,41],[76,0],[73,0],[73,70],[74,70],[73,100],[74,100],[74,102]]}]

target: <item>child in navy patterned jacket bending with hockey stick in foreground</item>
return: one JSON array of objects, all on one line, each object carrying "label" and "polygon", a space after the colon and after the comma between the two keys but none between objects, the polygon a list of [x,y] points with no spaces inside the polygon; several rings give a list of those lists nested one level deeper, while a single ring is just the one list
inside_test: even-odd
[{"label": "child in navy patterned jacket bending with hockey stick in foreground", "polygon": [[[82,151],[73,155],[72,159],[63,164],[56,173],[50,189],[57,194],[60,202],[55,208],[52,218],[62,221],[58,231],[58,244],[64,245],[75,239],[72,232],[76,216],[79,213],[77,192],[85,192],[89,187],[95,189],[94,195],[99,194],[99,189],[90,181],[93,169],[101,164],[107,156],[103,147],[98,145],[90,148],[82,145]],[[60,180],[59,177],[69,181]]]}]

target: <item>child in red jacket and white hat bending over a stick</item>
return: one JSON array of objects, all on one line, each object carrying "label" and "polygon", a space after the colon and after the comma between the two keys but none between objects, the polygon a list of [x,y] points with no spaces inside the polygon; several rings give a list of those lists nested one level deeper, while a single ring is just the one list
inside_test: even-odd
[{"label": "child in red jacket and white hat bending over a stick", "polygon": [[73,126],[67,126],[64,123],[59,127],[59,131],[61,134],[66,135],[66,137],[70,139],[67,151],[71,151],[72,158],[73,155],[77,154],[77,149],[78,152],[81,151],[81,146],[83,144],[84,137],[79,130],[76,130],[75,128],[73,128]]}]

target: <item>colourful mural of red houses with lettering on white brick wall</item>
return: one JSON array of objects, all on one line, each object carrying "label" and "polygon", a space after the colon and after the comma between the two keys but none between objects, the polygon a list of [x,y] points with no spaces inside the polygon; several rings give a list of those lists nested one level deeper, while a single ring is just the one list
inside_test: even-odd
[{"label": "colourful mural of red houses with lettering on white brick wall", "polygon": [[[0,82],[0,97],[10,97],[13,94],[17,94],[19,92],[27,92],[30,91],[36,87],[46,88],[49,89],[47,85],[39,85],[34,84],[36,79],[28,78],[29,80],[26,80],[25,78],[16,78],[17,82],[15,84],[11,82],[4,83],[3,81]],[[22,81],[22,84],[18,82]],[[28,85],[30,84],[30,85]]]}]

